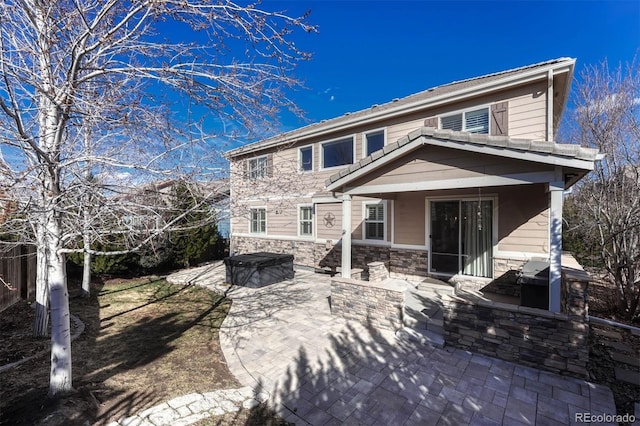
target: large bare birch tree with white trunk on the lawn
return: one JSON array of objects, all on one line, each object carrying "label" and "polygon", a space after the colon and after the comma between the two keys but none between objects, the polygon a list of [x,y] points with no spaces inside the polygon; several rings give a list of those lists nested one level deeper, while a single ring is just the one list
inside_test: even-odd
[{"label": "large bare birch tree with white trunk on the lawn", "polygon": [[[196,41],[173,42],[169,26]],[[283,90],[308,58],[289,40],[300,30],[314,30],[306,16],[225,0],[0,3],[1,184],[18,206],[9,228],[37,245],[50,395],[72,389],[66,254],[105,254],[83,238],[116,239],[116,252],[149,243],[172,222],[127,188],[223,170],[215,129],[265,130],[297,112]]]}]

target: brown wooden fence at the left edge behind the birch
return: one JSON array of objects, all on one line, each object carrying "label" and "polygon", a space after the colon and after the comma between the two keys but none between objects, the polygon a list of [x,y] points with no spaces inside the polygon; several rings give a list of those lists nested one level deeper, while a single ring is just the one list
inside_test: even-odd
[{"label": "brown wooden fence at the left edge behind the birch", "polygon": [[0,311],[20,299],[36,296],[36,249],[14,246],[0,249]]}]

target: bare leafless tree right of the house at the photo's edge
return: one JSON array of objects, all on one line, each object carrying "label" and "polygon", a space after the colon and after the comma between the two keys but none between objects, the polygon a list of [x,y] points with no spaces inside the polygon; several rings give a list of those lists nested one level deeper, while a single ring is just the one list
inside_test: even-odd
[{"label": "bare leafless tree right of the house at the photo's edge", "polygon": [[570,134],[605,158],[569,200],[569,232],[597,253],[616,285],[618,314],[632,320],[640,302],[640,68],[587,67],[574,93]]}]

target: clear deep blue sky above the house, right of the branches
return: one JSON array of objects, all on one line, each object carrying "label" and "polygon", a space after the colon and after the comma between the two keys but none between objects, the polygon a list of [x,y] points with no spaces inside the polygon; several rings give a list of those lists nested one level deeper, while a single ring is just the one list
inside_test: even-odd
[{"label": "clear deep blue sky above the house, right of the branches", "polygon": [[[269,10],[311,10],[318,34],[296,34],[313,53],[293,99],[312,122],[440,84],[558,57],[576,75],[640,47],[640,1],[269,1]],[[304,124],[283,116],[283,130]]]}]

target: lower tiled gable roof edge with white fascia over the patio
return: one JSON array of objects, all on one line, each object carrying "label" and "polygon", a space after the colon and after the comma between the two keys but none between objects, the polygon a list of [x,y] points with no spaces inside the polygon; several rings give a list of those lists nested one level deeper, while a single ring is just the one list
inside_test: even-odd
[{"label": "lower tiled gable roof edge with white fascia over the patio", "polygon": [[572,167],[585,171],[593,170],[594,162],[602,158],[597,149],[584,148],[579,145],[421,127],[400,138],[397,142],[385,145],[380,151],[376,151],[331,175],[325,181],[327,190],[337,190],[341,186],[423,145],[455,148],[506,158]]}]

